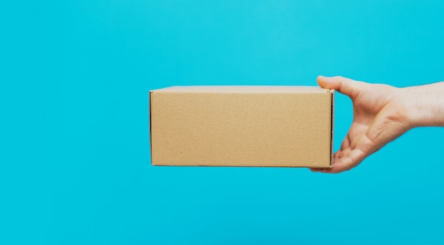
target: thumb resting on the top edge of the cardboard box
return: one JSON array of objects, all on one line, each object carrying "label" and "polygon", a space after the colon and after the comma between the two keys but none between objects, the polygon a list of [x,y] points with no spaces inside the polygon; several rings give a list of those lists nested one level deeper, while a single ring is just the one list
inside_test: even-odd
[{"label": "thumb resting on the top edge of the cardboard box", "polygon": [[343,76],[318,76],[319,86],[324,89],[334,89],[351,97],[362,82],[345,78]]}]

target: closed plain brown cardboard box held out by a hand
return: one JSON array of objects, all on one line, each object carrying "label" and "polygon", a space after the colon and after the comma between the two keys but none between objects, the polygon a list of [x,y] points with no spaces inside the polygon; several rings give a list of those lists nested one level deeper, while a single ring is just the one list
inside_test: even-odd
[{"label": "closed plain brown cardboard box held out by a hand", "polygon": [[152,165],[329,168],[333,104],[313,86],[150,91]]}]

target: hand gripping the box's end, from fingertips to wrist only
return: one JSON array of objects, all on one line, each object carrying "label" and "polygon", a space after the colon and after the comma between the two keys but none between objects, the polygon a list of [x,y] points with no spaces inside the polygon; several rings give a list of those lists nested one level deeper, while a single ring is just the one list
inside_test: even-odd
[{"label": "hand gripping the box's end, from fingertips to wrist only", "polygon": [[353,102],[353,123],[334,154],[331,169],[311,169],[340,173],[360,164],[370,154],[414,127],[407,112],[409,96],[404,89],[385,84],[367,84],[342,76],[318,76],[319,86],[335,89]]}]

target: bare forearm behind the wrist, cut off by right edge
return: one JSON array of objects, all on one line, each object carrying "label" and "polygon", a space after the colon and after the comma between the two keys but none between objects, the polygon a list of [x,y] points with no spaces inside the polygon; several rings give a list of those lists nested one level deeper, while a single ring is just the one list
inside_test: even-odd
[{"label": "bare forearm behind the wrist, cut off by right edge", "polygon": [[444,127],[444,81],[402,89],[412,127]]}]

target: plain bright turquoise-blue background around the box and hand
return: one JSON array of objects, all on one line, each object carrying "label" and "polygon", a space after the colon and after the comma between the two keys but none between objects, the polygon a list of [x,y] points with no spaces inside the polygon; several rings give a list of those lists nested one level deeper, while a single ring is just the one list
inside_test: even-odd
[{"label": "plain bright turquoise-blue background around the box and hand", "polygon": [[[442,128],[352,171],[150,166],[148,91],[444,79],[444,1],[2,1],[0,244],[444,244]],[[337,94],[335,149],[353,119]]]}]

